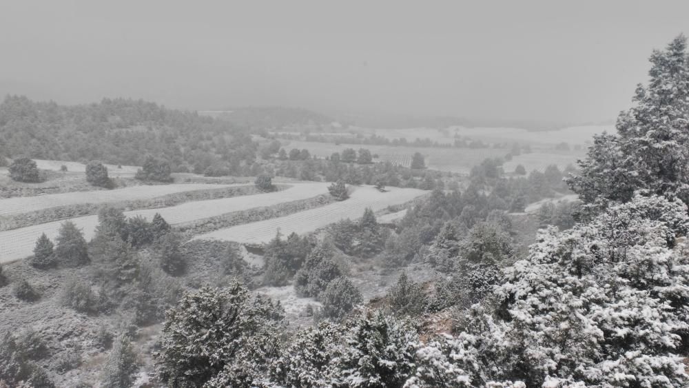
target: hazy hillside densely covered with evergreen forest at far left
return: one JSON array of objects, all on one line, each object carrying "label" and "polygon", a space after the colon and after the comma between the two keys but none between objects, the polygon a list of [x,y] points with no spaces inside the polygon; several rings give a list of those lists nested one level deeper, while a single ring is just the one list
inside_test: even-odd
[{"label": "hazy hillside densely covered with evergreen forest at far left", "polygon": [[7,96],[0,103],[0,138],[2,155],[144,165],[145,156],[154,154],[169,160],[173,171],[199,165],[203,173],[227,159],[236,173],[256,158],[245,126],[130,99],[64,106]]}]

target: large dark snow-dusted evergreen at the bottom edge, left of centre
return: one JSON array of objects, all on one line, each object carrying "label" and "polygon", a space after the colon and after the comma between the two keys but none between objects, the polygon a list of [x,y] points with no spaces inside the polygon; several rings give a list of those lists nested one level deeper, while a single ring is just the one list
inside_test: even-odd
[{"label": "large dark snow-dusted evergreen at the bottom edge, left of centre", "polygon": [[251,386],[266,373],[263,356],[274,352],[279,309],[252,299],[237,282],[185,294],[165,316],[158,376],[170,387],[201,387],[214,378],[211,387]]}]

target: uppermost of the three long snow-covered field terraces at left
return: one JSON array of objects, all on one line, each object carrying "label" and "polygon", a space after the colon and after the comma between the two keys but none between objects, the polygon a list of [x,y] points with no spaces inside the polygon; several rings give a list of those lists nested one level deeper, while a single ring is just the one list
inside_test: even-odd
[{"label": "uppermost of the three long snow-covered field terraces at left", "polygon": [[235,185],[210,185],[210,184],[176,184],[176,185],[140,185],[123,187],[116,190],[98,190],[92,192],[71,192],[63,194],[47,194],[41,196],[23,196],[0,199],[0,216],[35,212],[50,207],[79,205],[81,203],[110,203],[117,201],[136,201],[141,199],[156,198],[167,194],[180,192],[192,192],[196,190],[222,189],[231,186],[242,186],[246,183]]}]

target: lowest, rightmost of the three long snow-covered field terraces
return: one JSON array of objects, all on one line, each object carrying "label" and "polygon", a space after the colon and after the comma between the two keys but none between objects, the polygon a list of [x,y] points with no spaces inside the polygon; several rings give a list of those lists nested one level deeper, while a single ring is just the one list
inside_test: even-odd
[{"label": "lowest, rightmost of the three long snow-covered field terraces", "polygon": [[278,229],[284,236],[296,232],[305,234],[320,227],[340,221],[342,218],[358,218],[370,207],[374,212],[389,205],[411,201],[427,192],[418,189],[389,187],[388,192],[379,192],[371,186],[357,187],[347,201],[331,203],[288,216],[218,229],[196,236],[197,239],[216,239],[238,243],[267,243],[275,237]]}]

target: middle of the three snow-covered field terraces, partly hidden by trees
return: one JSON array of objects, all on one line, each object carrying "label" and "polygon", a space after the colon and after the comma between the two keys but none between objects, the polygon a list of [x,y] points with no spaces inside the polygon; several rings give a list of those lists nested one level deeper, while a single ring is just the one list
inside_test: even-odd
[{"label": "middle of the three snow-covered field terraces, partly hidden by trees", "polygon": [[[291,187],[280,192],[194,201],[159,209],[132,210],[125,212],[125,216],[143,216],[150,221],[156,213],[160,213],[168,223],[174,225],[253,207],[272,206],[311,198],[320,194],[327,194],[327,187],[327,183],[291,183]],[[96,225],[98,225],[98,216],[76,217],[72,218],[71,221],[76,224],[76,227],[82,229],[87,241],[93,238]],[[55,221],[0,232],[0,263],[32,255],[37,238],[45,233],[48,238],[54,240],[61,223],[63,221]]]}]

